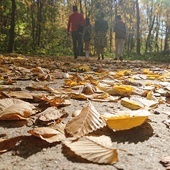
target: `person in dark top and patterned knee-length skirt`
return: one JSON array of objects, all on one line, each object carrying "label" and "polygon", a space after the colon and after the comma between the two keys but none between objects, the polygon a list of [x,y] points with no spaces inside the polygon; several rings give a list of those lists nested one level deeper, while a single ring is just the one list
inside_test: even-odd
[{"label": "person in dark top and patterned knee-length skirt", "polygon": [[108,30],[108,22],[104,19],[104,13],[101,12],[95,21],[94,31],[94,44],[98,56],[98,60],[102,58],[104,59],[104,48],[107,46],[107,30]]}]

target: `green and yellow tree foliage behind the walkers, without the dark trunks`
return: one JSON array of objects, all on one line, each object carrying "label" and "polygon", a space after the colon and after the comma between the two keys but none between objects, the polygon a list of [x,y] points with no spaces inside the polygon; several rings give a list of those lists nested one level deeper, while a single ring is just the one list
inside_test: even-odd
[{"label": "green and yellow tree foliage behind the walkers, without the dark trunks", "polygon": [[[152,13],[147,13],[147,5],[151,1],[140,1],[141,10],[141,53],[145,52],[146,40],[149,31],[147,25],[149,18],[153,16]],[[130,36],[127,39],[128,48],[126,49],[126,59],[140,59],[140,60],[164,60],[168,61],[168,57],[163,57],[161,53],[153,54],[153,51],[161,51],[164,49],[165,32],[163,26],[167,19],[168,0],[156,0],[150,4],[149,11],[160,20],[156,20],[154,28],[151,31],[149,38],[148,51],[145,57],[136,54],[136,16],[134,11],[135,1],[112,1],[112,0],[87,0],[76,1],[76,5],[80,6],[84,12],[84,16],[90,17],[92,25],[96,19],[98,12],[103,11],[109,23],[108,32],[108,48],[106,49],[106,57],[114,57],[114,43],[110,43],[111,39],[114,42],[114,33],[112,32],[114,26],[114,19],[116,14],[122,15],[125,21]],[[72,41],[71,37],[66,36],[66,28],[68,16],[71,12],[72,5],[75,1],[18,1],[16,0],[17,12],[15,22],[15,44],[14,50],[17,53],[23,54],[48,54],[48,55],[72,55]],[[159,6],[159,8],[157,8]],[[104,8],[103,8],[104,7]],[[165,9],[164,9],[165,8]],[[7,51],[9,41],[9,29],[11,21],[11,1],[0,1],[0,50]],[[1,21],[2,20],[2,21]],[[157,23],[159,24],[157,24]],[[161,27],[162,26],[162,27]],[[158,32],[156,32],[158,30]],[[158,40],[156,40],[156,33],[159,33]],[[160,34],[161,33],[161,34]],[[112,37],[110,37],[112,35]],[[161,37],[161,38],[160,38]],[[164,38],[164,39],[163,39]],[[157,44],[157,48],[155,46]],[[94,47],[91,47],[94,52]],[[156,57],[155,57],[156,56]]]}]

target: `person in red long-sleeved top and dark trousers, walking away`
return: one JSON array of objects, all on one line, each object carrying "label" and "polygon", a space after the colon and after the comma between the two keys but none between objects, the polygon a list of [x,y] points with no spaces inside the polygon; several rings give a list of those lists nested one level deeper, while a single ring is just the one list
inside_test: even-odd
[{"label": "person in red long-sleeved top and dark trousers, walking away", "polygon": [[83,40],[82,40],[82,34],[83,34],[83,27],[85,26],[85,20],[82,14],[78,13],[77,6],[73,6],[73,14],[69,16],[68,19],[68,26],[67,26],[67,33],[68,35],[72,35],[73,40],[73,52],[74,52],[74,58],[77,59],[77,57],[80,55]]}]

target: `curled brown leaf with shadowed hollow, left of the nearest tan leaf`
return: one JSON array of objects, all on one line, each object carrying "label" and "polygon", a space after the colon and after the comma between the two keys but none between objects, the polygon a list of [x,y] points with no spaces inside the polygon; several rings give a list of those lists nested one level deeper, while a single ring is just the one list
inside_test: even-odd
[{"label": "curled brown leaf with shadowed hollow, left of the nearest tan leaf", "polygon": [[49,143],[60,142],[65,139],[65,135],[63,133],[49,127],[34,128],[32,130],[29,130],[28,133],[33,136],[39,137]]}]

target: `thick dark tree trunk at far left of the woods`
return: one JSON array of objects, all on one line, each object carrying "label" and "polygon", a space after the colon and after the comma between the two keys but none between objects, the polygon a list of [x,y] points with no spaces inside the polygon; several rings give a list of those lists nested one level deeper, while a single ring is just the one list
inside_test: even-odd
[{"label": "thick dark tree trunk at far left of the woods", "polygon": [[15,0],[11,0],[11,2],[12,2],[12,12],[11,12],[11,23],[10,23],[9,44],[8,44],[8,52],[9,53],[12,53],[14,50],[15,15],[16,15],[16,2],[15,2]]}]

